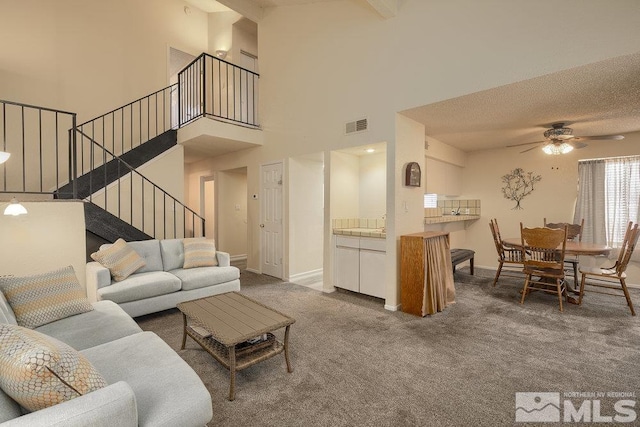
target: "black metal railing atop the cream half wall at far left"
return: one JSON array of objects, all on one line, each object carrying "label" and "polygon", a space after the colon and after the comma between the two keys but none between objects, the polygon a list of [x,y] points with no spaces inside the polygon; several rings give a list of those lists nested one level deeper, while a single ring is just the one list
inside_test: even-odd
[{"label": "black metal railing atop the cream half wall at far left", "polygon": [[67,130],[76,113],[0,100],[0,116],[0,150],[11,154],[0,165],[0,193],[55,195],[75,181],[76,140]]}]

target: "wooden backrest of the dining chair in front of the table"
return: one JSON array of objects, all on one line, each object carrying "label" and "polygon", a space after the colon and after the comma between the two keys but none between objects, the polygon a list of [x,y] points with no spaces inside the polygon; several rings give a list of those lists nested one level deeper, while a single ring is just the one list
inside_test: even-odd
[{"label": "wooden backrest of the dining chair in front of the table", "polygon": [[525,228],[520,223],[520,236],[525,270],[539,270],[564,275],[564,253],[567,244],[566,226],[563,229]]}]

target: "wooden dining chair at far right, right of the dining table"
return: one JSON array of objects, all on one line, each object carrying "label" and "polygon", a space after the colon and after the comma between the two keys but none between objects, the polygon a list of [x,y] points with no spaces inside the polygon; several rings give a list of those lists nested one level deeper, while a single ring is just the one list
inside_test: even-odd
[{"label": "wooden dining chair at far right, right of the dining table", "polygon": [[[625,273],[625,270],[627,269],[627,265],[629,264],[629,260],[631,259],[631,254],[633,254],[633,250],[636,247],[636,243],[638,243],[638,236],[640,236],[638,224],[633,225],[633,222],[630,222],[624,235],[624,241],[622,242],[622,247],[620,248],[620,254],[618,255],[616,263],[612,267],[580,268],[581,280],[580,297],[578,299],[578,304],[582,304],[582,297],[584,296],[585,286],[590,287],[589,292],[605,295],[619,296],[619,293],[614,293],[613,291],[622,291],[624,297],[627,299],[627,305],[629,306],[629,310],[631,310],[631,315],[636,315],[636,312],[633,309],[633,303],[631,302],[631,296],[629,295],[629,290],[627,289],[627,274]],[[609,291],[598,291],[593,290],[592,288],[605,288]]]}]

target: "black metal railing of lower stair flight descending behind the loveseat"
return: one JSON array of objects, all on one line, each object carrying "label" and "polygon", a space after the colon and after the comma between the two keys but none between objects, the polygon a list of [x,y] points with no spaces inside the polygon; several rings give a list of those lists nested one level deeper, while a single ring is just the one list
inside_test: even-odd
[{"label": "black metal railing of lower stair flight descending behind the loveseat", "polygon": [[[157,239],[204,236],[203,217],[185,206],[175,197],[151,182],[134,167],[104,148],[80,129],[82,145],[89,153],[89,196],[85,198],[107,212],[115,215],[140,231]],[[80,149],[80,148],[78,148]],[[109,165],[117,173],[117,179],[108,183],[108,167],[102,168],[102,176],[95,172],[95,160],[100,165]],[[95,188],[94,182],[97,182]],[[107,183],[106,186],[104,184]]]}]

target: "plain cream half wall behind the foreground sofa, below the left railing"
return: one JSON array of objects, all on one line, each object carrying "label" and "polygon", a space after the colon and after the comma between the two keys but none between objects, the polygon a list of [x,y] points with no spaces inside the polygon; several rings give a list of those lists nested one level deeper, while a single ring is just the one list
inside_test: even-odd
[{"label": "plain cream half wall behind the foreground sofa, below the left railing", "polygon": [[[81,202],[22,202],[27,215],[0,215],[0,274],[27,276],[72,265],[85,288],[86,244]],[[6,204],[0,208],[4,211]]]}]

